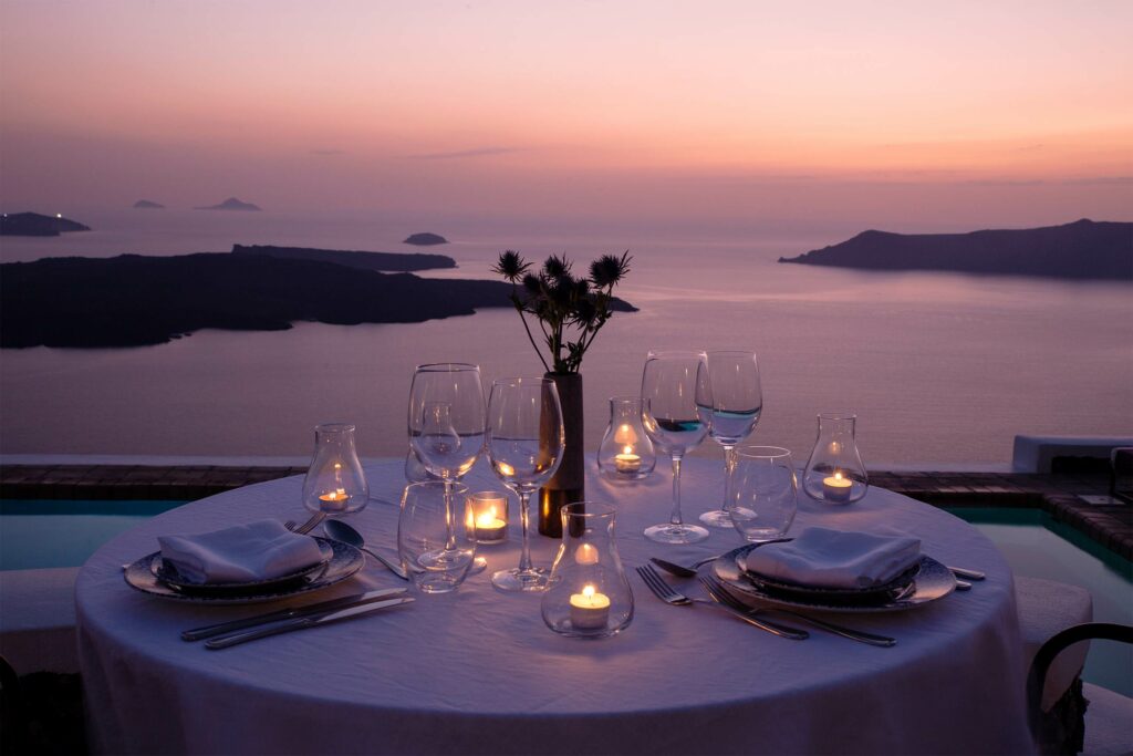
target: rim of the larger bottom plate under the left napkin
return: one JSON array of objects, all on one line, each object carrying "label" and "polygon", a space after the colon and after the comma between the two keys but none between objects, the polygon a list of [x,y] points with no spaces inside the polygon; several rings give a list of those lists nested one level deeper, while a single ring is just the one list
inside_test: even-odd
[{"label": "rim of the larger bottom plate under the left napkin", "polygon": [[353,576],[366,563],[363,553],[348,543],[330,538],[316,540],[320,542],[320,546],[325,543],[332,551],[330,560],[322,564],[321,569],[288,583],[275,583],[242,592],[185,591],[163,583],[154,568],[154,561],[161,561],[160,551],[126,564],[122,569],[122,577],[126,579],[126,585],[135,591],[159,598],[198,604],[256,604],[321,591]]}]

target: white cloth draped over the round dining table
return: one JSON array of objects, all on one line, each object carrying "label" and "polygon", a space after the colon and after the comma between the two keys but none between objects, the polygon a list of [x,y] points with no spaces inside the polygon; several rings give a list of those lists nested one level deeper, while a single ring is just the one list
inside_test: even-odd
[{"label": "white cloth draped over the round dining table", "polygon": [[[722,493],[722,462],[685,462],[685,513]],[[740,545],[716,530],[693,546],[641,535],[670,512],[671,477],[634,485],[591,475],[591,500],[617,507],[627,570],[649,555],[693,560]],[[395,501],[401,460],[367,467],[372,495]],[[471,490],[501,489],[483,465]],[[708,606],[673,608],[630,572],[637,613],[620,636],[563,638],[539,596],[502,594],[488,575],[518,559],[485,547],[488,570],[455,593],[408,608],[212,652],[179,631],[265,611],[153,598],[121,566],[155,537],[265,516],[299,519],[301,478],[212,496],[161,515],[101,549],[77,584],[79,653],[91,736],[107,753],[191,754],[959,754],[1028,753],[1012,575],[995,546],[940,510],[878,489],[829,508],[801,496],[795,528],[824,524],[910,532],[936,559],[983,570],[985,583],[912,611],[837,615],[898,638],[877,648],[812,631],[785,640]],[[397,509],[372,503],[351,521],[395,545]],[[533,518],[534,521],[534,518]],[[533,537],[537,563],[556,542]],[[400,581],[370,564],[318,598]],[[685,583],[690,591],[696,584]],[[307,598],[313,601],[314,597]]]}]

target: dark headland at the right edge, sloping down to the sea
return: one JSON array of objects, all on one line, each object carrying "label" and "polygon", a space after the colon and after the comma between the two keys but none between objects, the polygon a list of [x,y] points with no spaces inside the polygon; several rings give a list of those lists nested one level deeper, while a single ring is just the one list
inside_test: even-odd
[{"label": "dark headland at the right edge, sloping down to the sea", "polygon": [[864,231],[798,257],[780,257],[780,262],[1133,281],[1133,223],[1083,219],[1065,226],[970,233]]}]

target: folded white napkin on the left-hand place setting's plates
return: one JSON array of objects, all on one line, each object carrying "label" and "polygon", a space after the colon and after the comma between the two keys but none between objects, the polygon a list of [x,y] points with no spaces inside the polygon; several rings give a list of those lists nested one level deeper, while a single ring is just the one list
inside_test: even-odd
[{"label": "folded white napkin on the left-hand place setting's plates", "polygon": [[270,580],[323,560],[310,536],[291,533],[278,520],[202,533],[159,536],[161,558],[191,583]]}]

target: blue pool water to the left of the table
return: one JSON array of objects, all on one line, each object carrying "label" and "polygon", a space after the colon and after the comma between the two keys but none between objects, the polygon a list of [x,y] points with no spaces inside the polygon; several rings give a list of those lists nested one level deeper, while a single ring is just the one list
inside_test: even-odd
[{"label": "blue pool water to the left of the table", "polygon": [[0,501],[0,570],[79,567],[102,544],[184,501]]}]

